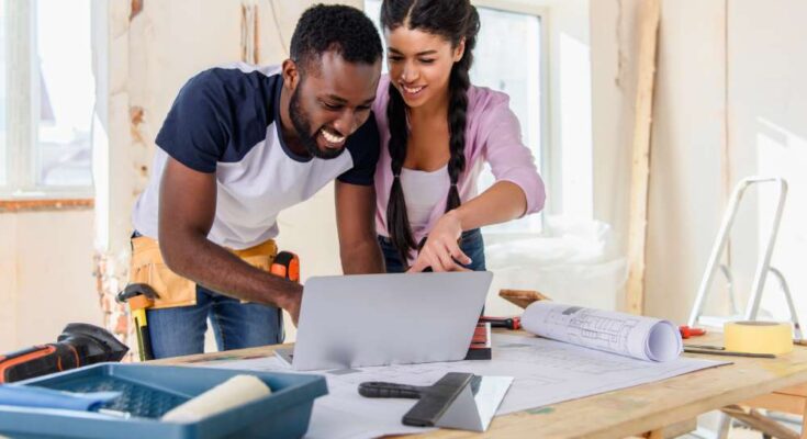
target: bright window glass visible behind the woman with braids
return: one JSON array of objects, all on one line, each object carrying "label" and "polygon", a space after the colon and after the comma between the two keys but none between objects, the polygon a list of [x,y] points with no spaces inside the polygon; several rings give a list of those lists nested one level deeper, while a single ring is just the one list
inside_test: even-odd
[{"label": "bright window glass visible behind the woman with braids", "polygon": [[[541,19],[536,13],[477,7],[482,26],[474,48],[471,82],[509,95],[511,110],[522,125],[525,145],[533,150],[536,166],[547,180],[543,165],[546,133],[543,128],[545,80]],[[366,0],[365,11],[380,30],[380,0]],[[383,33],[381,33],[383,35]],[[384,66],[386,71],[386,66]],[[493,184],[490,167],[478,180],[479,193]],[[490,226],[485,233],[539,233],[542,215],[529,215],[505,224]]]}]

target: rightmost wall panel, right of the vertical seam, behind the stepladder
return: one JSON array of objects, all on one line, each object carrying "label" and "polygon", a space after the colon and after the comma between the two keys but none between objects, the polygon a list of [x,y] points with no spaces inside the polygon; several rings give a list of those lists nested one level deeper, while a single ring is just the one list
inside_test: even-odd
[{"label": "rightmost wall panel, right of the vertical seam, behind the stepladder", "polygon": [[[800,0],[729,2],[728,138],[732,181],[749,175],[776,175],[789,182],[788,201],[773,257],[795,294],[802,322],[807,318],[807,15]],[[750,289],[752,266],[764,241],[775,191],[749,198],[731,257],[739,277],[740,305]],[[754,205],[755,204],[755,205]],[[762,308],[786,318],[785,303],[769,279]]]}]

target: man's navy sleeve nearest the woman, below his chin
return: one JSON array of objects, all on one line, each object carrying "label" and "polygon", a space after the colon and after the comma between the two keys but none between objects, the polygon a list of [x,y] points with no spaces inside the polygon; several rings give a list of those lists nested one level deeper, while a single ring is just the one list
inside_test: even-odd
[{"label": "man's navy sleeve nearest the woman, below his chin", "polygon": [[350,184],[372,184],[376,165],[379,161],[380,144],[381,139],[378,125],[376,125],[376,116],[370,113],[367,122],[348,137],[345,146],[354,159],[354,167],[337,179]]}]

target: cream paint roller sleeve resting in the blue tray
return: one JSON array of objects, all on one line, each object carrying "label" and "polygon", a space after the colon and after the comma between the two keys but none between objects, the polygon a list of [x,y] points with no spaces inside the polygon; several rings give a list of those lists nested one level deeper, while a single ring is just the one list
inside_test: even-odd
[{"label": "cream paint roller sleeve resting in the blue tray", "polygon": [[235,375],[162,415],[169,423],[195,423],[269,395],[271,390],[255,375]]}]

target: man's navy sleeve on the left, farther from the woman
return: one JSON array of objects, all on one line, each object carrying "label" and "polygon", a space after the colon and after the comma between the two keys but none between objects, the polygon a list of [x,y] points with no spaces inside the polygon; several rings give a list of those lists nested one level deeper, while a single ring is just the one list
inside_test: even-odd
[{"label": "man's navy sleeve on the left, farther from the woman", "polygon": [[224,86],[206,70],[179,91],[156,143],[182,165],[215,172],[231,140],[232,117]]}]

